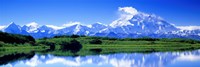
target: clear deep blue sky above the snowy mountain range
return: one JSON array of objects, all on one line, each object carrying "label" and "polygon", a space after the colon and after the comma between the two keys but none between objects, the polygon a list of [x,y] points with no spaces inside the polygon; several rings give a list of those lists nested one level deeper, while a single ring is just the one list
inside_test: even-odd
[{"label": "clear deep blue sky above the snowy mountain range", "polygon": [[118,7],[134,7],[178,26],[200,25],[200,0],[0,0],[0,25],[110,24],[119,17]]}]

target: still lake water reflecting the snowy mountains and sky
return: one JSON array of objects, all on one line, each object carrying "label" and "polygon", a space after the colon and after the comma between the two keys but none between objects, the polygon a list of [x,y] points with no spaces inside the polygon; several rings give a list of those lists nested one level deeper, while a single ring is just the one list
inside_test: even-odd
[{"label": "still lake water reflecting the snowy mountains and sky", "polygon": [[200,67],[200,50],[77,57],[35,54],[30,59],[16,60],[0,67]]}]

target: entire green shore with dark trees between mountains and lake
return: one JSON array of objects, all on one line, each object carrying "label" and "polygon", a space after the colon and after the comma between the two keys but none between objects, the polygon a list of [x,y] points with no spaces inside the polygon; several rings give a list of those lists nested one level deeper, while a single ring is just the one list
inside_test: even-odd
[{"label": "entire green shore with dark trees between mountains and lake", "polygon": [[[200,41],[191,39],[108,38],[91,36],[55,36],[36,41],[31,36],[1,32],[0,57],[13,53],[36,52],[54,55],[91,55],[109,53],[185,51],[200,48]],[[4,36],[4,37],[3,37]],[[4,39],[16,40],[4,40]]]}]

